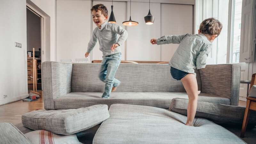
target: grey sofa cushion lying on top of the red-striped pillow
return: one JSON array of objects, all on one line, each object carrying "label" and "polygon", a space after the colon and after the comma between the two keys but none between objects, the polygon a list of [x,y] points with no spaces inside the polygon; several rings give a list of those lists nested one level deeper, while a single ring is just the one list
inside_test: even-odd
[{"label": "grey sofa cushion lying on top of the red-striped pillow", "polygon": [[36,110],[22,116],[22,124],[33,130],[73,134],[100,124],[109,117],[107,105],[88,108]]}]

